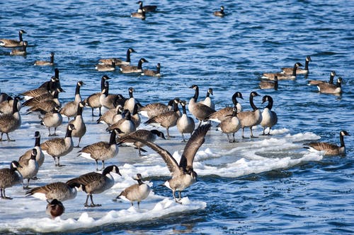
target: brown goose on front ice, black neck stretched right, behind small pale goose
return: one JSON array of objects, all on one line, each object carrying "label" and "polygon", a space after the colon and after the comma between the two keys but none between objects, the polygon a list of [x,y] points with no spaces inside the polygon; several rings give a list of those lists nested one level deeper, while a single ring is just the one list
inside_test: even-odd
[{"label": "brown goose on front ice, black neck stretched right, behind small pale goose", "polygon": [[[92,194],[103,193],[103,191],[112,188],[114,185],[113,176],[110,173],[120,174],[117,166],[112,165],[105,167],[102,174],[97,172],[90,172],[83,174],[77,178],[70,179],[67,183],[79,183],[83,185],[83,191],[87,193],[85,207],[99,207],[100,204],[93,203]],[[91,205],[88,205],[88,200],[91,199]]]}]

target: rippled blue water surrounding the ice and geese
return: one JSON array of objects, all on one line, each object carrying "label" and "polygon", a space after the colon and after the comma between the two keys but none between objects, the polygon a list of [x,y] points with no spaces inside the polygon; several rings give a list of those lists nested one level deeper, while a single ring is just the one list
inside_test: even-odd
[{"label": "rippled blue water surrounding the ice and geese", "polygon": [[[158,11],[146,20],[130,18],[135,1],[1,1],[0,37],[16,38],[18,30],[30,47],[28,55],[9,56],[0,49],[1,92],[13,95],[48,80],[54,68],[33,66],[55,52],[61,83],[72,100],[74,84],[84,80],[83,97],[99,90],[104,73],[98,59],[125,58],[132,64],[144,57],[144,68],[161,63],[161,78],[107,73],[110,89],[127,95],[134,87],[142,104],[189,100],[214,89],[216,109],[231,104],[240,91],[244,109],[256,90],[271,95],[278,114],[275,129],[311,132],[339,143],[346,129],[347,153],[295,167],[241,177],[218,172],[201,176],[190,198],[207,203],[205,210],[134,224],[108,224],[75,234],[353,234],[354,233],[354,2],[353,1],[152,1]],[[227,16],[212,16],[224,5]],[[263,72],[278,71],[312,57],[309,76],[280,81],[279,90],[259,90]],[[307,80],[329,80],[330,71],[343,78],[340,96],[319,94]],[[256,101],[261,107],[261,100]],[[91,112],[87,109],[87,116]],[[261,129],[258,128],[258,133]],[[247,132],[248,133],[248,132]],[[257,134],[258,134],[257,133]],[[239,133],[236,134],[239,138]],[[226,136],[222,138],[226,140]],[[252,141],[252,140],[244,140]],[[218,145],[218,143],[214,143]],[[235,144],[235,146],[237,143]],[[4,146],[4,145],[3,145]],[[2,147],[2,146],[1,146]],[[237,152],[234,153],[237,156]],[[152,176],[155,191],[171,195],[161,185],[166,177]],[[71,232],[72,233],[72,232]]]}]

